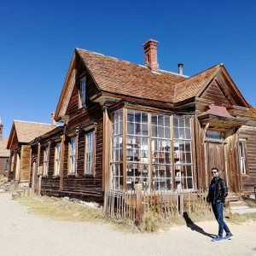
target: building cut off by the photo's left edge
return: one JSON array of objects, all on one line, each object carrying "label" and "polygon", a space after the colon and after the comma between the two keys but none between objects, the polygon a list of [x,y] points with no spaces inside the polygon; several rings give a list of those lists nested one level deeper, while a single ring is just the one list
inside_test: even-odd
[{"label": "building cut off by the photo's left edge", "polygon": [[8,137],[3,137],[3,124],[0,118],[0,177],[8,176],[9,149],[6,148]]}]

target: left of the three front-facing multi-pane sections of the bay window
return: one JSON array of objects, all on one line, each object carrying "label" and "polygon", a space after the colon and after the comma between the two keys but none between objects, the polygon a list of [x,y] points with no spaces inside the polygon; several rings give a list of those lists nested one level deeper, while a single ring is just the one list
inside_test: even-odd
[{"label": "left of the three front-facing multi-pane sections of the bay window", "polygon": [[127,110],[126,137],[126,183],[127,189],[135,189],[142,183],[143,189],[149,188],[149,131],[148,113]]}]

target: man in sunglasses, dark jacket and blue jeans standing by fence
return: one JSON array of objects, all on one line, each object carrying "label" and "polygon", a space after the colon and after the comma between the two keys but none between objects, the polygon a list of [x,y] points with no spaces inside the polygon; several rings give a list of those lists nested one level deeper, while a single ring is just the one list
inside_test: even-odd
[{"label": "man in sunglasses, dark jacket and blue jeans standing by fence", "polygon": [[[212,168],[212,182],[209,187],[209,194],[207,195],[207,202],[212,203],[212,211],[218,221],[218,236],[213,238],[212,241],[224,241],[233,238],[230,229],[224,222],[223,210],[225,204],[225,197],[228,195],[227,185],[221,177],[219,177],[218,168]],[[225,230],[226,236],[223,237]]]}]

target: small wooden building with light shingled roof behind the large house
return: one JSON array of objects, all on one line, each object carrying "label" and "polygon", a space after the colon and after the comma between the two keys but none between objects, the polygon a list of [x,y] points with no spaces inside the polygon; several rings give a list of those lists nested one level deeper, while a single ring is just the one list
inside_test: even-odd
[{"label": "small wooden building with light shingled roof behind the large house", "polygon": [[55,129],[56,125],[14,120],[7,148],[9,149],[9,181],[28,186],[31,148],[34,137]]}]

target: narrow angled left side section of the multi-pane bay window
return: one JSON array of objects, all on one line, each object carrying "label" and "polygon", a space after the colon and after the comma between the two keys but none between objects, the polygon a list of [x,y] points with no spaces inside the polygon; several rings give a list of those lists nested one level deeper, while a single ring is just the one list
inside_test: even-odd
[{"label": "narrow angled left side section of the multi-pane bay window", "polygon": [[111,154],[111,187],[123,189],[123,110],[113,114],[112,154]]}]

